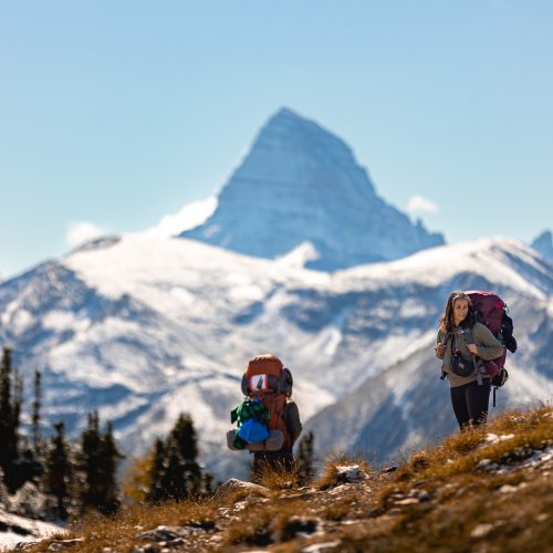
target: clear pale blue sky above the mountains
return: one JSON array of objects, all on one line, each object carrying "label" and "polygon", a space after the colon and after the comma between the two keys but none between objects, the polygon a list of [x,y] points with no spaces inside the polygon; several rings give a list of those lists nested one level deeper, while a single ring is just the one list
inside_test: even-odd
[{"label": "clear pale blue sky above the mountains", "polygon": [[533,0],[0,0],[0,274],[217,192],[284,105],[448,241],[530,241],[553,227],[552,28]]}]

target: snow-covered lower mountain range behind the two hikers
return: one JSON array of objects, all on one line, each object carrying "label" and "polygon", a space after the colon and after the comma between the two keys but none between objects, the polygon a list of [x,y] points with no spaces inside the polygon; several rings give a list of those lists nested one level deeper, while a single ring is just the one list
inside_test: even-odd
[{"label": "snow-covered lower mountain range behind the two hikers", "polygon": [[[332,418],[338,409],[331,404],[375,378],[389,396],[387,407],[377,400],[382,393],[367,392],[372,410],[365,417],[358,407],[358,424],[388,413],[379,419],[384,434],[401,428],[407,437],[428,438],[425,425],[401,422],[410,411],[394,399],[397,384],[386,375],[401,363],[415,372],[411,357],[420,359],[417,367],[431,361],[437,372],[426,344],[455,289],[502,294],[521,344],[517,363],[543,378],[524,397],[542,398],[549,389],[553,274],[520,242],[440,247],[335,273],[289,261],[187,239],[100,242],[0,284],[0,344],[14,348],[28,389],[34,368],[43,372],[45,415],[63,418],[69,434],[97,408],[102,419],[113,420],[124,449],[139,451],[189,410],[204,460],[219,477],[246,467],[223,438],[229,411],[241,399],[241,374],[260,353],[279,354],[292,369],[304,420],[325,407]],[[431,382],[436,389],[421,389],[429,408],[447,394]],[[341,439],[349,444],[346,434]]]}]

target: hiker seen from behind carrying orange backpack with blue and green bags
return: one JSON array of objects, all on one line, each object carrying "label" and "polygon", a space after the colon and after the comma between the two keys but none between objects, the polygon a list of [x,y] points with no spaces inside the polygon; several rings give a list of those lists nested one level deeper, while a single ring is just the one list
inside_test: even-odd
[{"label": "hiker seen from behind carrying orange backpack with blue and green bags", "polygon": [[302,424],[291,397],[292,386],[292,373],[275,355],[258,355],[249,361],[241,386],[246,399],[231,411],[231,422],[238,422],[239,428],[230,431],[227,439],[230,449],[248,449],[253,453],[254,477],[264,467],[278,470],[293,467],[292,448]]}]

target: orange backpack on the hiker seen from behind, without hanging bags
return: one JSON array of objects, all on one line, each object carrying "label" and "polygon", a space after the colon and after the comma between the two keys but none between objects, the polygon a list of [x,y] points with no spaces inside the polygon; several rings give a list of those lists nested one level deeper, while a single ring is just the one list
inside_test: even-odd
[{"label": "orange backpack on the hiker seen from behind, without hanging bags", "polygon": [[292,445],[283,417],[286,400],[292,394],[292,373],[272,354],[258,355],[250,359],[242,376],[243,395],[252,399],[259,398],[269,409],[271,420],[267,426],[270,430],[282,431],[283,447]]}]

